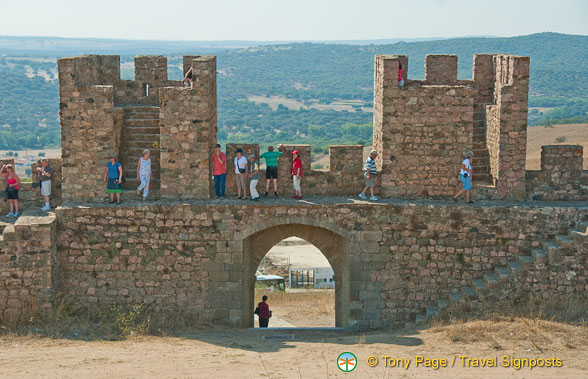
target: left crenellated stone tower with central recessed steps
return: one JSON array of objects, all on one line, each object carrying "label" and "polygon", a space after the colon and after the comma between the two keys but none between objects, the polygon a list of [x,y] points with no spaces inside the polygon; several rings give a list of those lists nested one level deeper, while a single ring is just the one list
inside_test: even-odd
[{"label": "left crenellated stone tower with central recessed steps", "polygon": [[151,150],[154,197],[210,194],[209,155],[216,143],[216,57],[185,56],[193,86],[168,80],[167,58],[135,57],[135,80],[120,79],[120,57],[58,61],[64,201],[104,198],[104,171],[114,153],[127,189],[135,187],[143,149]]}]

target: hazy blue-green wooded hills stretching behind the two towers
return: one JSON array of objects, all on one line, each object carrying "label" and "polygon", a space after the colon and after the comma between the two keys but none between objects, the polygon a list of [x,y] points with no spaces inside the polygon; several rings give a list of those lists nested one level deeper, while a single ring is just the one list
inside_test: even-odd
[{"label": "hazy blue-green wooded hills stretching behind the two towers", "polygon": [[528,55],[530,124],[588,122],[588,36],[344,42],[0,37],[0,149],[59,144],[56,57],[87,53],[121,55],[127,79],[134,55],[167,55],[169,77],[179,79],[181,55],[216,54],[221,142],[311,143],[315,151],[329,143],[369,143],[375,54],[409,55],[409,78],[424,77],[426,54],[457,54],[464,79],[471,78],[475,53]]}]

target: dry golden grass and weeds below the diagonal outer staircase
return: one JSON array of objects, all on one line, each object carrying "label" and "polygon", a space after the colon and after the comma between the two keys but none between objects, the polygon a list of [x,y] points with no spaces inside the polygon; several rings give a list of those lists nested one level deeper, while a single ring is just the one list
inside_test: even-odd
[{"label": "dry golden grass and weeds below the diagonal outer staircase", "polygon": [[588,345],[588,299],[560,296],[516,300],[474,310],[458,304],[441,312],[430,332],[462,344],[487,344],[494,350],[513,344],[539,352]]}]

